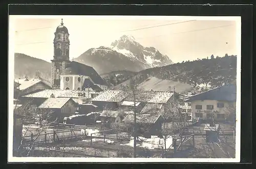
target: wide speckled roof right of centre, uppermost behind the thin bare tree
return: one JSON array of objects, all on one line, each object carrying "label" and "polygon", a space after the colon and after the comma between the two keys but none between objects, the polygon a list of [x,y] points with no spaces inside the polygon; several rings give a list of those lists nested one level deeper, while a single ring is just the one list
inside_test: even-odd
[{"label": "wide speckled roof right of centre, uppermost behind the thin bare tree", "polygon": [[[136,95],[136,102],[166,103],[173,96],[169,91],[144,91]],[[134,102],[133,96],[129,95],[124,101]]]}]

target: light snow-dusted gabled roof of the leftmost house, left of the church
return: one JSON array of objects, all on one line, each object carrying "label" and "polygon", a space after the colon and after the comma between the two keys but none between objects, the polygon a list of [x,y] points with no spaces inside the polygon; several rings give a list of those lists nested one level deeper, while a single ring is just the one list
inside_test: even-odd
[{"label": "light snow-dusted gabled roof of the leftmost house, left of the church", "polygon": [[39,82],[42,82],[44,84],[46,84],[47,86],[49,87],[52,87],[51,83],[48,82],[47,80],[45,79],[42,79],[42,78],[33,78],[33,79],[30,79],[30,80],[26,80],[26,79],[15,79],[14,82],[20,84],[18,85],[18,89],[19,90],[25,90]]}]

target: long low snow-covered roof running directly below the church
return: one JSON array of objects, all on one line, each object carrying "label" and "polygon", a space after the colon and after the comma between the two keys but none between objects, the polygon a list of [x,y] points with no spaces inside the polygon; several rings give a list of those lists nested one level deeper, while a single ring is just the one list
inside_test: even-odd
[{"label": "long low snow-covered roof running directly below the church", "polygon": [[81,91],[81,90],[60,90],[60,89],[47,89],[38,91],[36,93],[24,95],[26,98],[51,98],[53,94],[55,98],[91,98],[91,93],[97,93],[93,90],[89,91]]}]

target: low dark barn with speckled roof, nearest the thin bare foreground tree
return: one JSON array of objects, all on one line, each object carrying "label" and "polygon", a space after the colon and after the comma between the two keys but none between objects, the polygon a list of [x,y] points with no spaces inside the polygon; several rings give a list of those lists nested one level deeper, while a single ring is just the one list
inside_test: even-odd
[{"label": "low dark barn with speckled roof, nearest the thin bare foreground tree", "polygon": [[[134,113],[128,114],[122,120],[123,123],[134,125]],[[151,138],[152,135],[161,137],[163,118],[156,114],[136,114],[136,123],[139,129],[138,133],[145,138]]]}]

